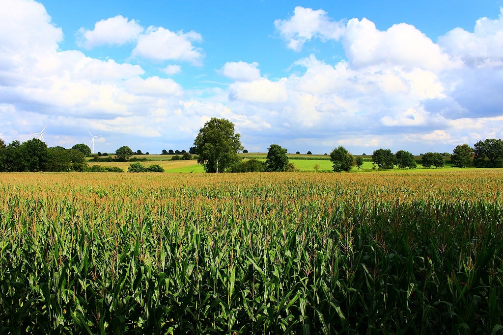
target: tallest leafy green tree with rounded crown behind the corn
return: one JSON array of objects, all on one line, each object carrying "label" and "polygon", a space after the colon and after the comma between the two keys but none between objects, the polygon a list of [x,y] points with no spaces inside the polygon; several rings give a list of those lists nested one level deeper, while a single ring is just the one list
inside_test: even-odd
[{"label": "tallest leafy green tree with rounded crown behind the corn", "polygon": [[234,124],[226,119],[212,118],[199,130],[194,140],[197,162],[206,172],[223,172],[236,161],[237,151],[242,150],[241,136],[234,134]]}]

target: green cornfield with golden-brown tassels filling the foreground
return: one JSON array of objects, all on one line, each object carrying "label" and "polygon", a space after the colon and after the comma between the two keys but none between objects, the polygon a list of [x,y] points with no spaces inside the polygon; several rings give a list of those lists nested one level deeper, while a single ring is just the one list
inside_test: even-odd
[{"label": "green cornfield with golden-brown tassels filling the foreground", "polygon": [[496,333],[503,170],[0,174],[0,333]]}]

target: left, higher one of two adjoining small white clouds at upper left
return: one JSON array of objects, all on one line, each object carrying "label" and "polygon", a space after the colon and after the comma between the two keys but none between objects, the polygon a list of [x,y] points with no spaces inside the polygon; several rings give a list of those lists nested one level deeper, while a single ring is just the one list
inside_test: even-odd
[{"label": "left, higher one of two adjoining small white clouds at upper left", "polygon": [[79,43],[87,49],[101,45],[124,45],[134,42],[144,28],[135,20],[129,20],[122,15],[98,21],[93,30],[80,28],[78,33],[82,37]]}]

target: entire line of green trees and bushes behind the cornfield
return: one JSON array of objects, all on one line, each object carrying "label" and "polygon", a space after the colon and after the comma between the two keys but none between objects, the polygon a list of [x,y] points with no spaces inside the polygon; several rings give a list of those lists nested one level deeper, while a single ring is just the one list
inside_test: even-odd
[{"label": "entire line of green trees and bushes behind the cornfield", "polygon": [[[241,145],[240,135],[234,133],[234,124],[226,119],[212,118],[199,130],[199,134],[194,140],[194,147],[191,147],[189,152],[163,150],[162,154],[176,154],[177,152],[182,154],[182,156],[173,156],[172,160],[190,160],[192,154],[196,154],[198,155],[198,163],[203,165],[206,172],[210,173],[295,171],[295,166],[289,163],[286,155],[287,149],[277,144],[271,144],[268,148],[265,162],[254,158],[243,160],[237,155],[237,152],[241,150],[245,152]],[[140,150],[136,152],[136,154],[139,153],[141,153]],[[101,158],[94,155],[92,161],[125,162],[130,160],[133,155],[135,153],[128,146],[122,146],[116,150],[115,158],[110,156]],[[83,143],[76,144],[71,149],[65,149],[63,147],[48,148],[43,141],[36,138],[23,143],[15,140],[9,145],[0,139],[0,172],[106,170],[106,168],[97,165],[89,168],[86,163],[87,156],[91,156],[91,149]],[[133,160],[146,159],[131,159],[130,161]],[[342,146],[332,150],[330,160],[333,163],[333,171],[336,172],[349,172],[353,166],[360,169],[364,162],[363,157],[354,157]],[[443,167],[445,165],[444,154],[428,152],[422,155],[420,162],[424,167]],[[410,152],[399,150],[392,153],[390,149],[382,148],[373,152],[372,163],[374,169],[393,169],[395,166],[402,169],[413,169],[417,166],[417,162]],[[471,166],[478,168],[503,167],[503,140],[486,139],[475,143],[473,148],[468,144],[458,145],[453,150],[451,163],[455,167],[461,168]],[[114,171],[118,171],[117,169]],[[130,172],[141,172],[142,168],[135,165],[130,170]],[[160,171],[160,169],[158,170]],[[145,168],[145,171],[148,169]]]}]

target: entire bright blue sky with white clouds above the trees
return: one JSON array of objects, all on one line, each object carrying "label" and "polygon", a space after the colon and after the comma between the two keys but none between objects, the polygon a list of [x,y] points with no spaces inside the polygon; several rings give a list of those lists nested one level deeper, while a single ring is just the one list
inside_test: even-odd
[{"label": "entire bright blue sky with white clouds above the trees", "polygon": [[501,6],[6,0],[0,138],[160,153],[218,117],[250,152],[451,152],[503,138]]}]

